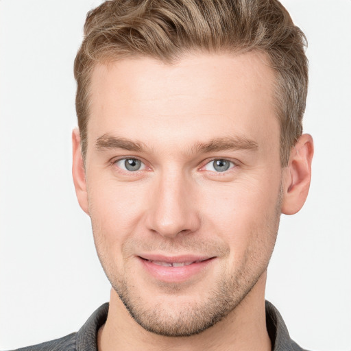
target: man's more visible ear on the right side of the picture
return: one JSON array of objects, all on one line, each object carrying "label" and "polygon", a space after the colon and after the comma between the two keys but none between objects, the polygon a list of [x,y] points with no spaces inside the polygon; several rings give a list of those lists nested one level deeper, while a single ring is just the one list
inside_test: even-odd
[{"label": "man's more visible ear on the right side of the picture", "polygon": [[294,215],[306,201],[311,183],[312,158],[313,138],[302,134],[291,149],[289,165],[283,171],[282,213],[285,215]]}]

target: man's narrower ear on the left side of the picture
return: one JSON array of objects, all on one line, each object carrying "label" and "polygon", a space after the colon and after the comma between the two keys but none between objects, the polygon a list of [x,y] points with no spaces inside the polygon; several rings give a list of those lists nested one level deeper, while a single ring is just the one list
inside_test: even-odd
[{"label": "man's narrower ear on the left side of the picture", "polygon": [[75,187],[75,194],[77,195],[80,207],[89,215],[88,210],[88,194],[86,192],[86,178],[84,171],[84,162],[82,156],[82,147],[80,146],[80,131],[76,128],[72,132],[72,146],[73,146],[73,164],[72,175]]}]

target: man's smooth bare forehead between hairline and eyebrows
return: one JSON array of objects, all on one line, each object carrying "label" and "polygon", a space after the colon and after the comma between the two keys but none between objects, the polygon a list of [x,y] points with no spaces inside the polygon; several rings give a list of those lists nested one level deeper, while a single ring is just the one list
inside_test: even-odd
[{"label": "man's smooth bare forehead between hairline and eyebrows", "polygon": [[274,71],[266,62],[263,53],[250,52],[194,53],[175,64],[152,58],[98,64],[90,85],[88,139],[106,133],[168,143],[232,133],[269,137],[278,121]]}]

